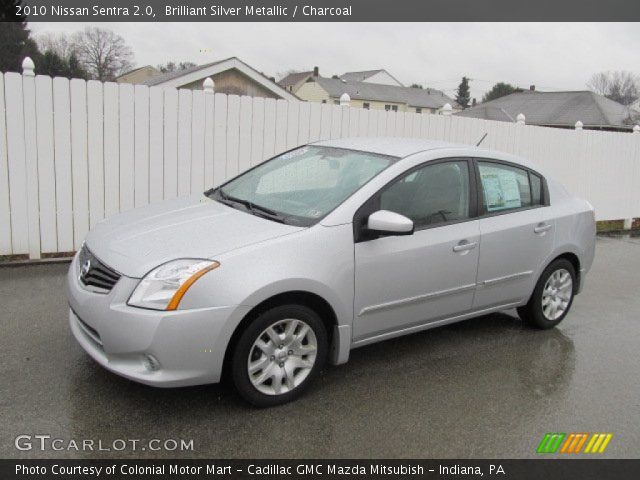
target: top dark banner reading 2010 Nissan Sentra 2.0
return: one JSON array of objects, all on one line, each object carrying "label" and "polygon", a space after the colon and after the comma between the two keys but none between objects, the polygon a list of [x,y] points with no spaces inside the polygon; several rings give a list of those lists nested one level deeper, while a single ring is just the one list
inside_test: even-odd
[{"label": "top dark banner reading 2010 Nissan Sentra 2.0", "polygon": [[638,22],[634,0],[23,0],[29,22]]}]

